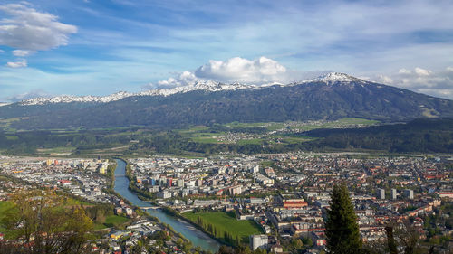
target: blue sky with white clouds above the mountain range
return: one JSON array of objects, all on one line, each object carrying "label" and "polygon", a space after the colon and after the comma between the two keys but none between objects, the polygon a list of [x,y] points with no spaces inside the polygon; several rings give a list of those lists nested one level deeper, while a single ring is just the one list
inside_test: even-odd
[{"label": "blue sky with white clouds above the mountain range", "polygon": [[338,71],[453,99],[453,1],[0,0],[0,102]]}]

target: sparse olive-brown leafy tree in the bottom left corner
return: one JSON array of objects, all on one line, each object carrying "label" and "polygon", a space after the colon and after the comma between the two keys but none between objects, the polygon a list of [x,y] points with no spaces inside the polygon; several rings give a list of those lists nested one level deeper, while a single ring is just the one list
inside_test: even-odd
[{"label": "sparse olive-brown leafy tree in the bottom left corner", "polygon": [[[86,252],[92,220],[82,207],[67,208],[60,196],[41,191],[18,193],[11,201],[14,207],[1,222],[13,243],[12,253]],[[24,244],[14,244],[18,242]]]}]

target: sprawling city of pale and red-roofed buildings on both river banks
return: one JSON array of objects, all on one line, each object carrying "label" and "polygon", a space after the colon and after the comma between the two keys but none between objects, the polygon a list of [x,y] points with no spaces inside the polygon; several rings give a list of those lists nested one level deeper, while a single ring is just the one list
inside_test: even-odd
[{"label": "sprawling city of pale and red-roofed buildings on both river banks", "polygon": [[[93,251],[127,250],[144,239],[149,249],[189,253],[193,248],[183,236],[169,237],[171,229],[166,225],[111,191],[113,159],[3,156],[0,160],[4,201],[24,189],[41,188],[110,204],[124,223],[102,229],[91,241]],[[342,182],[350,189],[364,242],[383,242],[389,223],[405,221],[420,240],[448,251],[453,212],[453,159],[448,156],[289,153],[125,160],[129,189],[140,199],[228,245],[246,244],[273,253],[294,246],[303,246],[307,253],[325,251],[325,209],[332,186]],[[213,227],[206,228],[203,214],[251,222],[247,226],[254,233],[219,236]]]}]

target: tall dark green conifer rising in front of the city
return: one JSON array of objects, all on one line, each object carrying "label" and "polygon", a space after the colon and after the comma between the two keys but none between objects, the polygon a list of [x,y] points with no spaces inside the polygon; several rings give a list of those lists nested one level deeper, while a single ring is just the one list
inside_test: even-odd
[{"label": "tall dark green conifer rising in front of the city", "polygon": [[328,253],[361,253],[361,235],[357,216],[345,183],[333,186],[330,205],[325,222]]}]

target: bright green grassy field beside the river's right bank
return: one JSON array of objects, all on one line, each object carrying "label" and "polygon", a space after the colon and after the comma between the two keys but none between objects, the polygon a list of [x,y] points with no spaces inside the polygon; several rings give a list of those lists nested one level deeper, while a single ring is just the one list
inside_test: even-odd
[{"label": "bright green grassy field beside the river's right bank", "polygon": [[185,212],[185,218],[197,223],[198,216],[208,223],[211,223],[217,230],[229,232],[234,239],[236,236],[242,242],[248,242],[248,237],[253,234],[261,234],[261,228],[255,221],[238,221],[232,214],[226,212]]}]

